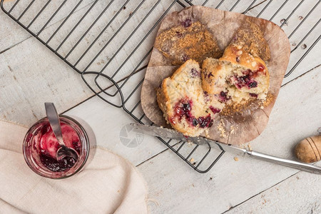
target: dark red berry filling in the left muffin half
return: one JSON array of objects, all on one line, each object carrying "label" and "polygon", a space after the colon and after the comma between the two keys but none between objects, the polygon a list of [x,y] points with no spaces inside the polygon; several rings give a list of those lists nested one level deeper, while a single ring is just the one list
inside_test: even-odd
[{"label": "dark red berry filling in the left muffin half", "polygon": [[187,99],[180,99],[178,103],[176,103],[174,108],[174,116],[169,118],[170,123],[175,124],[175,118],[178,118],[180,121],[183,117],[185,117],[186,121],[190,123],[190,126],[200,126],[200,128],[210,127],[213,125],[213,119],[210,115],[205,117],[195,118],[191,113],[193,108],[193,101]]}]

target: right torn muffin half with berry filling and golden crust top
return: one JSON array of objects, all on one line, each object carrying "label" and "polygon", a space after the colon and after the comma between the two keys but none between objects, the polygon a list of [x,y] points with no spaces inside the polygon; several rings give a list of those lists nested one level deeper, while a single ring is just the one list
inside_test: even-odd
[{"label": "right torn muffin half with berry filling and golden crust top", "polygon": [[[238,62],[233,62],[238,57]],[[243,103],[250,98],[265,100],[270,74],[259,57],[236,47],[225,49],[222,58],[206,58],[202,66],[203,90],[225,103]]]}]

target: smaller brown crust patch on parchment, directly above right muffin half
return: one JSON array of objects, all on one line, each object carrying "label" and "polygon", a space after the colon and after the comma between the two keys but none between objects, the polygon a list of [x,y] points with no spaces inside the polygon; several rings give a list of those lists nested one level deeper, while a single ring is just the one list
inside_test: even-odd
[{"label": "smaller brown crust patch on parchment, directly above right muffin half", "polygon": [[235,32],[229,45],[242,47],[244,52],[258,56],[263,61],[269,61],[271,58],[270,47],[264,39],[263,32],[250,19],[245,19],[242,26]]}]

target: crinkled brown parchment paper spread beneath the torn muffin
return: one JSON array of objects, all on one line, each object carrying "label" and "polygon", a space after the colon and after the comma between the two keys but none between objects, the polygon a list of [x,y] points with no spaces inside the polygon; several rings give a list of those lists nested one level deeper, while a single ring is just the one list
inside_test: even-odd
[{"label": "crinkled brown parchment paper spread beneath the torn muffin", "polygon": [[[228,11],[220,11],[205,6],[191,6],[180,12],[173,12],[163,19],[158,34],[178,26],[182,21],[190,19],[200,21],[208,27],[218,41],[220,49],[228,46],[235,31],[249,16]],[[210,128],[208,138],[230,144],[241,144],[252,141],[263,132],[280,91],[283,76],[290,58],[290,42],[279,26],[265,19],[250,17],[251,21],[260,26],[264,37],[270,46],[271,58],[267,62],[270,72],[270,102],[263,109],[258,103],[244,111],[230,113],[228,116],[219,115]],[[158,35],[157,34],[157,35]],[[156,101],[156,88],[164,78],[170,76],[178,66],[172,66],[170,61],[157,49],[153,49],[148,63],[145,80],[141,90],[141,104],[146,116],[158,126],[170,128],[163,118],[163,112]],[[231,127],[232,126],[232,127]],[[220,127],[220,130],[219,130]],[[225,135],[222,133],[225,132]]]}]

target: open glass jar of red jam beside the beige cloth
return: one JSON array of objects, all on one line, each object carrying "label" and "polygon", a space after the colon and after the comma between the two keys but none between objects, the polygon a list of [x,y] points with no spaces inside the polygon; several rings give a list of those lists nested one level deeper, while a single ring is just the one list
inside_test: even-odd
[{"label": "open glass jar of red jam beside the beige cloth", "polygon": [[63,141],[67,147],[74,148],[79,157],[56,161],[58,141],[51,130],[47,118],[34,123],[26,133],[23,144],[24,159],[31,170],[46,178],[68,178],[78,173],[85,165],[89,155],[88,135],[75,119],[59,116]]}]

